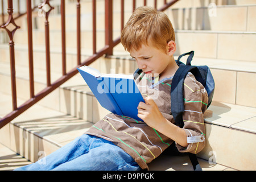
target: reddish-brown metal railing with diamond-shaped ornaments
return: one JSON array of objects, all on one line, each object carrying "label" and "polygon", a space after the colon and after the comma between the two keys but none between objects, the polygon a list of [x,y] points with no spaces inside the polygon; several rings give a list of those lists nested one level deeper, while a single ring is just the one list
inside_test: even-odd
[{"label": "reddish-brown metal railing with diamond-shaped ornaments", "polygon": [[[121,30],[125,24],[124,22],[124,12],[125,12],[125,1],[121,1]],[[130,1],[130,0],[129,0]],[[172,0],[167,2],[164,0],[164,5],[161,7],[160,11],[164,11],[168,9],[168,7],[172,6],[178,0]],[[5,1],[6,2],[6,1]],[[22,114],[25,110],[30,108],[32,105],[36,104],[36,102],[40,101],[42,98],[46,97],[49,93],[53,90],[58,88],[61,84],[65,81],[69,80],[69,78],[73,77],[77,73],[77,68],[81,67],[82,65],[89,65],[93,63],[93,61],[97,60],[101,56],[104,55],[113,55],[113,48],[117,46],[121,42],[120,38],[113,40],[113,0],[105,0],[105,46],[102,47],[100,50],[96,50],[96,0],[92,0],[92,22],[93,22],[93,54],[89,56],[88,59],[81,61],[81,3],[80,0],[77,0],[76,8],[77,8],[77,66],[71,71],[66,71],[66,36],[65,36],[65,0],[60,0],[60,10],[61,10],[61,52],[62,52],[62,76],[57,79],[56,81],[51,81],[51,68],[50,68],[50,44],[49,44],[49,22],[48,17],[51,13],[51,10],[54,9],[49,3],[49,0],[44,0],[41,4],[42,6],[39,7],[31,7],[31,0],[27,0],[27,12],[26,13],[19,13],[17,17],[14,18],[13,15],[13,0],[8,0],[8,19],[5,23],[2,24],[1,28],[5,29],[7,34],[9,35],[9,49],[10,49],[10,69],[11,69],[11,96],[12,96],[12,104],[13,104],[13,111],[7,114],[0,120],[0,129],[5,126],[7,123],[12,121],[15,117]],[[136,0],[131,1],[133,3],[133,10],[136,7]],[[147,5],[147,1],[144,0],[144,6]],[[46,45],[46,72],[47,72],[47,86],[41,92],[35,94],[34,91],[34,60],[33,60],[33,40],[32,40],[32,11],[36,8],[42,9],[44,5],[49,7],[48,11],[46,12],[45,18],[45,45]],[[157,1],[154,1],[155,8],[157,7]],[[2,7],[3,7],[3,0],[2,0]],[[3,9],[2,9],[3,11]],[[28,67],[29,67],[29,78],[30,78],[30,99],[24,102],[22,105],[17,106],[17,94],[16,94],[16,75],[15,75],[15,49],[14,49],[14,35],[15,31],[17,31],[20,27],[16,25],[15,19],[20,18],[20,16],[27,15],[27,35],[28,35]],[[2,13],[2,20],[4,14]],[[15,27],[12,31],[8,29],[7,26],[9,24],[13,24]]]}]

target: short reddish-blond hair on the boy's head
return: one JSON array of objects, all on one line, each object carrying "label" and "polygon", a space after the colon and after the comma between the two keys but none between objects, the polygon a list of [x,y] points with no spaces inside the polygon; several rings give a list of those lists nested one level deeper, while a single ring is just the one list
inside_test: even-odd
[{"label": "short reddish-blond hair on the boy's head", "polygon": [[174,28],[168,16],[152,7],[138,7],[123,28],[121,43],[126,51],[138,50],[142,44],[166,50],[175,41]]}]

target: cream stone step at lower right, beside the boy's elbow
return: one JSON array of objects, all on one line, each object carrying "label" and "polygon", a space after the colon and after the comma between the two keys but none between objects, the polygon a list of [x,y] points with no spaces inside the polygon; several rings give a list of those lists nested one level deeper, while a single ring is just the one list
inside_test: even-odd
[{"label": "cream stone step at lower right, beside the boy's elbow", "polygon": [[255,170],[256,108],[213,102],[204,118],[207,143],[197,156],[240,170]]}]

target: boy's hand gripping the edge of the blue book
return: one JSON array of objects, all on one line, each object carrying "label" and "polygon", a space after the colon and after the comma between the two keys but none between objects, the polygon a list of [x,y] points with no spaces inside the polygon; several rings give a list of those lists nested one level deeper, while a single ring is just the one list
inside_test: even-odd
[{"label": "boy's hand gripping the edge of the blue book", "polygon": [[148,126],[156,129],[156,127],[166,119],[163,117],[152,98],[146,97],[144,101],[145,103],[140,102],[138,105],[138,117],[147,123]]}]

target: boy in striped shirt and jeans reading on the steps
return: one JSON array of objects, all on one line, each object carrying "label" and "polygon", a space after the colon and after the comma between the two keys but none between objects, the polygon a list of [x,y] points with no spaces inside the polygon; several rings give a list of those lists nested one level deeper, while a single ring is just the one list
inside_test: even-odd
[{"label": "boy in striped shirt and jeans reading on the steps", "polygon": [[[208,95],[191,73],[184,82],[183,129],[171,115],[171,82],[178,66],[175,33],[167,15],[139,7],[123,29],[121,42],[143,71],[135,81],[145,96],[138,105],[138,117],[144,122],[108,114],[84,135],[46,156],[45,164],[39,161],[18,169],[140,170],[148,169],[147,164],[173,142],[181,152],[203,149]],[[203,140],[189,142],[196,136]]]}]

